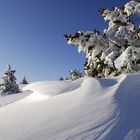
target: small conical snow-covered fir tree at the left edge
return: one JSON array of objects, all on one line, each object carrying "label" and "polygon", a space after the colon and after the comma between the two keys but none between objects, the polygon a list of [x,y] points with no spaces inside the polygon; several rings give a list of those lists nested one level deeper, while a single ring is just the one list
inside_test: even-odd
[{"label": "small conical snow-covered fir tree at the left edge", "polygon": [[3,83],[0,85],[0,91],[2,93],[12,94],[19,91],[18,85],[16,84],[16,77],[14,73],[16,71],[11,69],[10,65],[7,65],[7,71],[4,73],[5,76],[2,77]]}]

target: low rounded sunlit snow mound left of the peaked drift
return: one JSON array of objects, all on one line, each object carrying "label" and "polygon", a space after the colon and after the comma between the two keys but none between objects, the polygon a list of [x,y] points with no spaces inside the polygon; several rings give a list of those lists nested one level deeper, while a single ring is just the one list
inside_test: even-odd
[{"label": "low rounded sunlit snow mound left of the peaked drift", "polygon": [[24,88],[24,90],[32,90],[41,94],[55,96],[75,90],[81,86],[83,79],[77,81],[42,81],[32,83]]}]

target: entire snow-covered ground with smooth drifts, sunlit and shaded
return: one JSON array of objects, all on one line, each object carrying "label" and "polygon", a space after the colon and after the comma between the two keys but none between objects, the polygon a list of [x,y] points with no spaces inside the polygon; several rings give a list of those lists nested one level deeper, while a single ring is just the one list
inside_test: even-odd
[{"label": "entire snow-covered ground with smooth drifts, sunlit and shaded", "polygon": [[140,74],[23,89],[0,96],[0,140],[140,140]]}]

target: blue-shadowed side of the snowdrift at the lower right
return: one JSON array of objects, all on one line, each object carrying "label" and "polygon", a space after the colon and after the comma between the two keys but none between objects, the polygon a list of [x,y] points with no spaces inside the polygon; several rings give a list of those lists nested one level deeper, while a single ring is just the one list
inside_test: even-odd
[{"label": "blue-shadowed side of the snowdrift at the lower right", "polygon": [[140,139],[140,75],[128,75],[119,85],[114,98],[119,103],[120,118],[112,139]]}]

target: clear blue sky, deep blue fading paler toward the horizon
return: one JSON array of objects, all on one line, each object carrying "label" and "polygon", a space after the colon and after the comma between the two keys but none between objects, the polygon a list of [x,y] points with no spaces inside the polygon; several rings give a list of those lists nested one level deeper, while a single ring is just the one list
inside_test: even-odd
[{"label": "clear blue sky, deep blue fading paler toward the horizon", "polygon": [[0,0],[0,76],[11,64],[18,81],[54,80],[83,70],[84,55],[63,35],[104,29],[98,9],[127,0]]}]

